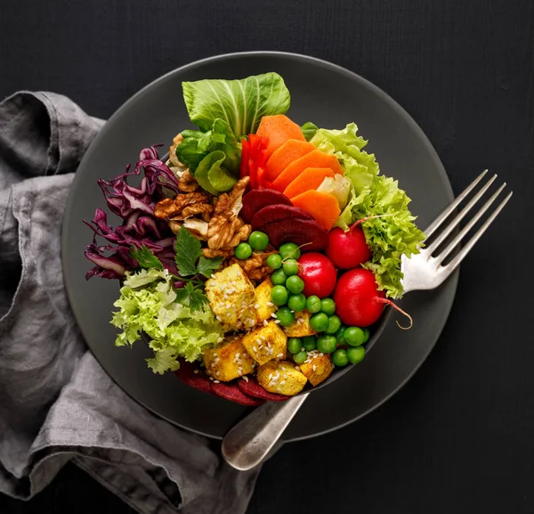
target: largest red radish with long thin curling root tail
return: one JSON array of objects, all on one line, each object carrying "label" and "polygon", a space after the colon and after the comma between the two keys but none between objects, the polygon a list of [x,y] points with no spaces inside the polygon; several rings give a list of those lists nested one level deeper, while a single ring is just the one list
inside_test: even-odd
[{"label": "largest red radish with long thin curling root tail", "polygon": [[[411,316],[396,306],[392,300],[385,298],[384,291],[379,291],[375,274],[363,268],[356,268],[344,273],[336,284],[334,291],[336,314],[348,326],[368,327],[378,318],[389,305],[409,318]],[[400,326],[400,325],[399,325]],[[404,328],[404,327],[401,327]]]}]

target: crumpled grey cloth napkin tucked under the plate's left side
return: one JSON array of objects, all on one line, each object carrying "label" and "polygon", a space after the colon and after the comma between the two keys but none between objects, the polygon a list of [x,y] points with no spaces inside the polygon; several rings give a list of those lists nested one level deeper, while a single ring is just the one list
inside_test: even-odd
[{"label": "crumpled grey cloth napkin tucked under the plate's left side", "polygon": [[59,94],[0,103],[0,492],[31,498],[74,461],[143,513],[245,512],[259,469],[231,469],[135,403],[69,309],[61,218],[102,125]]}]

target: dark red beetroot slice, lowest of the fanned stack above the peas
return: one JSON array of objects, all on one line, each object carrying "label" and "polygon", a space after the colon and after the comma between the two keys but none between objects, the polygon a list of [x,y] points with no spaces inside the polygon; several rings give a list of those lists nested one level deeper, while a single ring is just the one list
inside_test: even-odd
[{"label": "dark red beetroot slice, lowest of the fanned stack above the peas", "polygon": [[328,230],[309,219],[287,219],[268,223],[263,225],[262,230],[269,236],[275,248],[280,248],[285,242],[294,242],[298,246],[305,244],[301,251],[307,252],[326,249],[328,245]]}]

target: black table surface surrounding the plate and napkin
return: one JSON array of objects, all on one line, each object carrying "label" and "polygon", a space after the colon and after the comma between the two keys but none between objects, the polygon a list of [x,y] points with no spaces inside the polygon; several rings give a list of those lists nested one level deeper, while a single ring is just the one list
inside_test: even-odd
[{"label": "black table surface surrounding the plate and napkin", "polygon": [[[534,2],[4,0],[0,97],[50,90],[107,118],[168,70],[248,50],[356,71],[416,119],[455,192],[486,167],[514,190],[416,376],[363,420],[282,448],[249,512],[534,512]],[[131,512],[72,465],[30,502],[0,497],[1,512],[97,509]]]}]

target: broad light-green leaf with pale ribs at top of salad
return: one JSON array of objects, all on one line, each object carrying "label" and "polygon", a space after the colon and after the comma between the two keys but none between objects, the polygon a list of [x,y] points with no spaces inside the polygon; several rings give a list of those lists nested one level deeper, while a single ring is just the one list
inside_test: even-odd
[{"label": "broad light-green leaf with pale ribs at top of salad", "polygon": [[278,73],[264,73],[240,80],[182,82],[183,100],[190,120],[206,132],[222,118],[239,139],[254,134],[263,116],[285,114],[289,91]]}]

